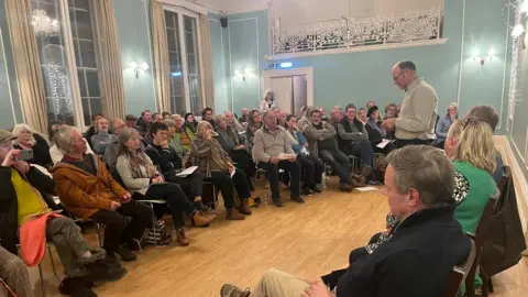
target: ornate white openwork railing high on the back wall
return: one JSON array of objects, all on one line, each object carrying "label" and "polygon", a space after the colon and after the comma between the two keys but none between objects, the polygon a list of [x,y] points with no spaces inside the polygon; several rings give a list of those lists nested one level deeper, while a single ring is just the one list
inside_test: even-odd
[{"label": "ornate white openwork railing high on the back wall", "polygon": [[273,53],[320,52],[441,37],[440,8],[273,29]]}]

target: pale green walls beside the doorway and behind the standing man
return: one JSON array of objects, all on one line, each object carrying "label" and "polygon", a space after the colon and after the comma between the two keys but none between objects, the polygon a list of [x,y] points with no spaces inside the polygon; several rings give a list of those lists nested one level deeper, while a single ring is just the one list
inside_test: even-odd
[{"label": "pale green walls beside the doorway and behind the standing man", "polygon": [[[458,101],[459,73],[462,65],[461,113],[477,103],[492,105],[502,111],[502,123],[497,133],[504,133],[509,86],[509,48],[503,7],[508,1],[465,0],[464,15],[464,0],[446,0],[443,35],[449,38],[446,44],[287,61],[293,62],[294,67],[314,67],[315,103],[328,109],[350,102],[363,106],[369,100],[374,100],[382,107],[389,102],[399,102],[403,92],[393,86],[391,68],[398,61],[411,59],[417,64],[419,75],[436,88],[440,113],[443,113],[450,102]],[[233,68],[254,65],[256,62],[260,62],[262,72],[265,67],[264,55],[270,46],[266,11],[227,18],[230,20],[227,29],[230,44],[227,48],[231,58],[230,63],[229,59],[227,63],[228,74],[231,74],[232,78]],[[238,19],[243,21],[232,22]],[[255,22],[258,23],[258,36],[255,35]],[[462,28],[464,51],[461,59]],[[261,51],[258,57],[254,57],[257,42]],[[223,47],[223,51],[227,48]],[[493,61],[486,61],[483,67],[473,61],[475,50],[487,53],[491,48],[495,52]],[[217,76],[215,78],[217,79]],[[256,107],[264,91],[262,81],[260,81],[260,78],[246,82],[232,79],[232,89],[228,88],[228,103],[232,100],[235,111],[240,112],[242,107]]]}]

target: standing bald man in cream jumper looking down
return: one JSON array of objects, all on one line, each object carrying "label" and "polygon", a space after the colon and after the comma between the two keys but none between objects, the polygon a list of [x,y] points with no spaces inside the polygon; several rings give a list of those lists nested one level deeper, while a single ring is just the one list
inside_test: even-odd
[{"label": "standing bald man in cream jumper looking down", "polygon": [[397,147],[429,144],[435,140],[438,97],[435,89],[416,74],[416,65],[402,61],[393,67],[394,85],[405,90],[399,118],[387,119],[383,128],[396,130]]}]

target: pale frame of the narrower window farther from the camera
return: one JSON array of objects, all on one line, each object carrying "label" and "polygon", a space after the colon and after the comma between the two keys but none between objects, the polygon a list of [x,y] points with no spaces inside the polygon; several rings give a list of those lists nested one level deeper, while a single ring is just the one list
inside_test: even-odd
[{"label": "pale frame of the narrower window farther from the camera", "polygon": [[[173,6],[163,6],[163,10],[169,11],[173,13],[178,14],[178,32],[179,32],[179,46],[180,46],[180,59],[182,59],[182,77],[184,78],[184,100],[185,100],[185,109],[188,112],[193,112],[191,103],[190,103],[190,88],[189,88],[189,80],[188,80],[188,63],[187,63],[187,44],[185,41],[185,26],[184,26],[184,15],[194,18],[196,20],[196,38],[198,44],[198,69],[200,72],[199,81],[200,81],[200,100],[201,106],[204,108],[207,107],[206,97],[205,97],[205,81],[204,81],[204,62],[202,62],[202,45],[201,45],[201,32],[200,32],[200,15],[197,12],[190,11],[185,8],[180,7],[173,7]],[[165,14],[164,14],[165,16]],[[167,31],[166,22],[164,22],[165,32]],[[168,48],[166,50],[168,53]],[[170,62],[169,62],[170,63]],[[172,97],[172,94],[170,94]],[[172,100],[172,98],[170,98]],[[169,105],[170,106],[170,105]],[[165,111],[165,110],[162,110]],[[201,116],[201,114],[194,114]]]}]

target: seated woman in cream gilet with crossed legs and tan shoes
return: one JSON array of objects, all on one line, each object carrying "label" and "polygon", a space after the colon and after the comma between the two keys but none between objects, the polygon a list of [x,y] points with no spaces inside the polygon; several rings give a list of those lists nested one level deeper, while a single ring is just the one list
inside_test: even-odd
[{"label": "seated woman in cream gilet with crossed legs and tan shoes", "polygon": [[[157,132],[156,125],[158,124],[163,125],[163,123],[158,122],[153,123],[151,131]],[[154,142],[157,142],[156,140],[157,138]],[[148,147],[152,146],[150,145]],[[215,220],[215,215],[205,215],[198,211],[178,184],[165,182],[164,176],[156,170],[151,158],[141,150],[140,134],[136,130],[130,128],[123,129],[119,136],[118,156],[117,170],[124,186],[132,194],[133,199],[161,199],[167,201],[170,215],[173,216],[176,239],[180,245],[189,244],[189,240],[185,233],[183,213],[187,215],[195,226],[206,226]],[[164,208],[154,208],[154,210],[156,218],[158,220],[162,219]]]}]

